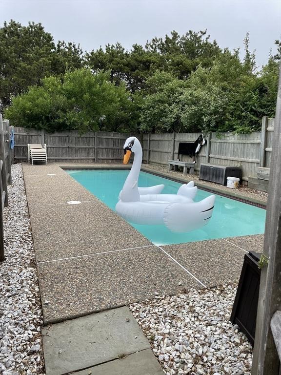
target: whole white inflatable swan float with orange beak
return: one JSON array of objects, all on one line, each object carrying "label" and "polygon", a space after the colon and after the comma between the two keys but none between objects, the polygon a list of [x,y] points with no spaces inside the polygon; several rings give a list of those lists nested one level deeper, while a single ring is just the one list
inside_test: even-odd
[{"label": "whole white inflatable swan float with orange beak", "polygon": [[177,194],[151,193],[149,189],[155,187],[139,188],[142,148],[136,137],[125,141],[124,164],[128,163],[132,152],[135,153],[134,162],[116,205],[120,216],[130,223],[165,225],[171,231],[181,233],[198,229],[209,222],[214,209],[214,195],[193,202],[197,192],[193,182],[182,185]]}]

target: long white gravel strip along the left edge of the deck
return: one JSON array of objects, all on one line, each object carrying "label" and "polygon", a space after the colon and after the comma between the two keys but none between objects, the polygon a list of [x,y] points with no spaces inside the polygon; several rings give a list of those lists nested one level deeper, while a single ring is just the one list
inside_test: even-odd
[{"label": "long white gravel strip along the left edge of the deck", "polygon": [[12,166],[0,263],[0,374],[44,374],[38,276],[22,168]]}]

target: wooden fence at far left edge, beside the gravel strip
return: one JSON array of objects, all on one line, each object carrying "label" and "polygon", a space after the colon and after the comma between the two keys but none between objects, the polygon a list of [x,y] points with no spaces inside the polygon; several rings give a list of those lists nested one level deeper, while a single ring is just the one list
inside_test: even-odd
[{"label": "wooden fence at far left edge, beside the gravel strip", "polygon": [[0,261],[4,259],[3,208],[8,206],[7,186],[12,183],[11,147],[9,120],[2,120],[0,114]]}]

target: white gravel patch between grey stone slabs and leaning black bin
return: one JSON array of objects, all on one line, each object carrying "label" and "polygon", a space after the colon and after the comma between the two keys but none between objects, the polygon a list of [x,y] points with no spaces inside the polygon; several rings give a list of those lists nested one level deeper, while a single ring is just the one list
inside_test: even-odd
[{"label": "white gravel patch between grey stone slabs and leaning black bin", "polygon": [[191,289],[130,305],[167,375],[250,375],[252,346],[229,321],[236,287]]}]

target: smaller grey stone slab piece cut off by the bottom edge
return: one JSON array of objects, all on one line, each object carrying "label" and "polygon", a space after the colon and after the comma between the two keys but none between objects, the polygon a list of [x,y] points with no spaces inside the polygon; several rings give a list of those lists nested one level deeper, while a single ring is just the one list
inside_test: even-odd
[{"label": "smaller grey stone slab piece cut off by the bottom edge", "polygon": [[163,375],[163,370],[150,349],[78,371],[74,375],[88,375],[90,372],[91,375]]}]

